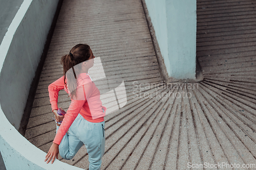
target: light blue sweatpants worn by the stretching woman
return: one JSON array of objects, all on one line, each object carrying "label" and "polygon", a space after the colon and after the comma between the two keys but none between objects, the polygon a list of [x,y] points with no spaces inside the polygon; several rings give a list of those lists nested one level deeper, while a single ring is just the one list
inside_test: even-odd
[{"label": "light blue sweatpants worn by the stretching woman", "polygon": [[[105,151],[104,127],[104,121],[91,123],[78,114],[59,144],[60,156],[70,160],[84,144],[89,155],[89,170],[100,169],[101,158]],[[58,128],[59,126],[57,126],[57,130]]]}]

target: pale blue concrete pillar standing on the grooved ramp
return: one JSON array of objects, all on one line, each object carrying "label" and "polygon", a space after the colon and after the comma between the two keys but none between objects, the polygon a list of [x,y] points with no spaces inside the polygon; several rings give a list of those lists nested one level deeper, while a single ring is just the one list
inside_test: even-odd
[{"label": "pale blue concrete pillar standing on the grooved ramp", "polygon": [[196,79],[196,0],[145,0],[168,76]]}]

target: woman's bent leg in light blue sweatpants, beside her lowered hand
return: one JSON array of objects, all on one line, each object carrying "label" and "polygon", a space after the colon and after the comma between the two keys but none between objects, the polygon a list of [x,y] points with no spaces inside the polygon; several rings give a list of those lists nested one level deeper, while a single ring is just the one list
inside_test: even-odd
[{"label": "woman's bent leg in light blue sweatpants, beside her lowered hand", "polygon": [[81,142],[72,131],[69,131],[63,136],[59,144],[59,154],[63,159],[70,160],[76,155],[82,145],[83,142]]}]

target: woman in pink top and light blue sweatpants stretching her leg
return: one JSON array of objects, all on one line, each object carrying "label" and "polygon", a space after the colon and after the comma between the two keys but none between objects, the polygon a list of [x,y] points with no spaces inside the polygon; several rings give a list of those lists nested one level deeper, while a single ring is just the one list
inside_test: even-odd
[{"label": "woman in pink top and light blue sweatpants stretching her leg", "polygon": [[[89,155],[89,169],[100,169],[105,150],[103,117],[106,107],[102,106],[99,89],[88,74],[94,58],[89,45],[75,45],[68,55],[61,58],[63,76],[48,87],[57,130],[46,155],[47,163],[51,159],[53,163],[55,157],[58,159],[58,153],[63,159],[72,159],[84,144]],[[62,116],[57,113],[61,89],[65,89],[71,98],[69,109]]]}]

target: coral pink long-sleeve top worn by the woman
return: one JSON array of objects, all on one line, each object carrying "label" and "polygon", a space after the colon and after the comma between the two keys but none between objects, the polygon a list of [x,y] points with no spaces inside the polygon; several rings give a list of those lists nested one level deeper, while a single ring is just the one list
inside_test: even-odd
[{"label": "coral pink long-sleeve top worn by the woman", "polygon": [[[60,144],[63,136],[67,133],[79,113],[89,122],[99,123],[104,121],[103,117],[105,116],[106,107],[102,106],[99,89],[96,87],[89,74],[80,74],[77,78],[77,83],[76,98],[71,99],[69,109],[53,140],[56,144]],[[64,76],[48,86],[52,110],[58,110],[58,92],[62,89],[70,93],[64,84]]]}]

